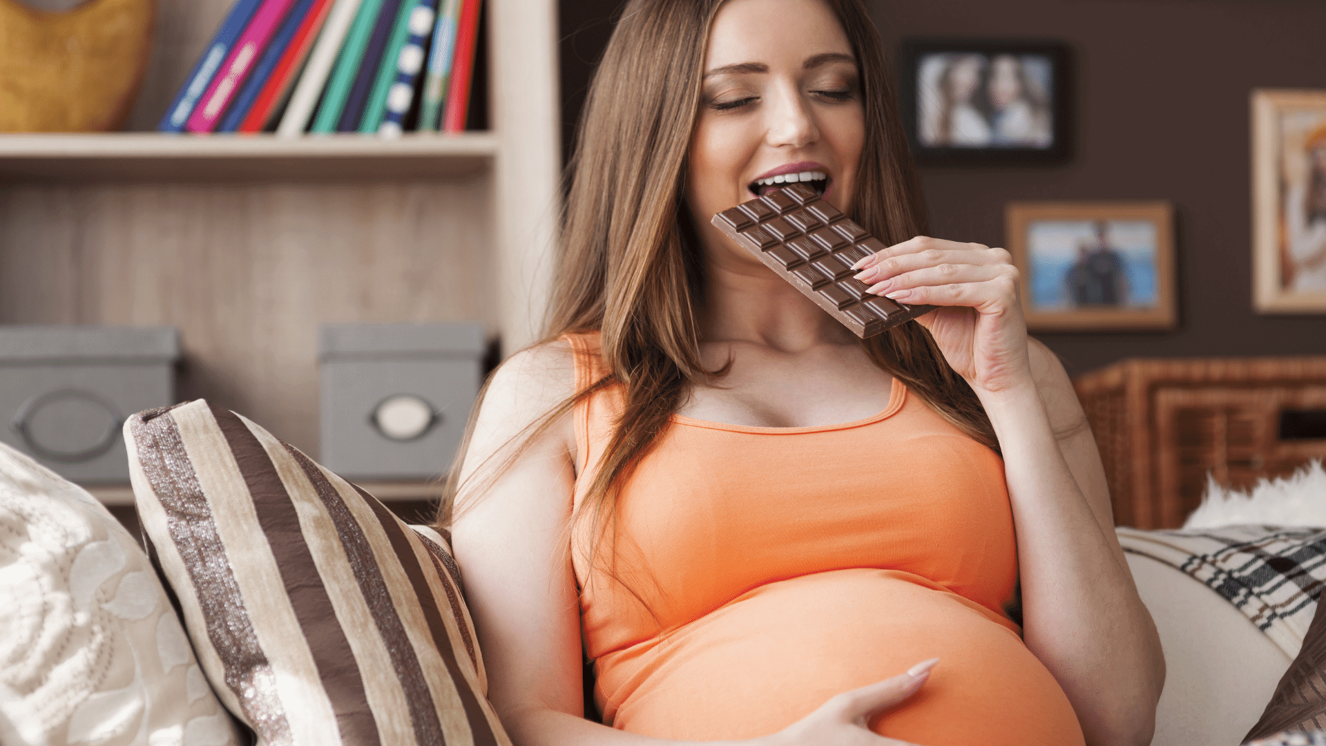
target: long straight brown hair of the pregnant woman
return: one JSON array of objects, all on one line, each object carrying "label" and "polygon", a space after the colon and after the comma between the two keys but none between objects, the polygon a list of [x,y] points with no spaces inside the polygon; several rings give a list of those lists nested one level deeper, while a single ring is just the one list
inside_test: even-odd
[{"label": "long straight brown hair of the pregnant woman", "polygon": [[[609,385],[622,388],[625,406],[577,519],[586,511],[595,523],[611,516],[618,487],[667,426],[687,388],[725,373],[707,370],[700,360],[695,309],[703,303],[703,263],[683,199],[705,40],[723,1],[631,0],[585,102],[568,167],[552,311],[540,344],[598,331],[610,373],[520,435],[529,442],[577,401]],[[923,234],[926,218],[879,36],[861,0],[825,1],[861,73],[866,138],[853,218],[886,243],[899,243]],[[919,324],[903,324],[862,346],[935,411],[996,447],[975,393]],[[468,437],[439,511],[443,527],[452,518],[467,446]],[[511,453],[508,462],[518,451]]]}]

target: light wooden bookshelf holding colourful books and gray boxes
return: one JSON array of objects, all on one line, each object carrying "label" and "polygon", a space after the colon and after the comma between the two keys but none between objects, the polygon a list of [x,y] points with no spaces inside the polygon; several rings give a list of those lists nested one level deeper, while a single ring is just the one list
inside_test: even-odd
[{"label": "light wooden bookshelf holding colourful books and gray boxes", "polygon": [[556,4],[485,0],[491,131],[149,131],[229,5],[159,1],[130,131],[0,135],[0,324],[179,327],[179,398],[316,455],[320,324],[480,320],[505,353],[533,341],[561,175]]}]

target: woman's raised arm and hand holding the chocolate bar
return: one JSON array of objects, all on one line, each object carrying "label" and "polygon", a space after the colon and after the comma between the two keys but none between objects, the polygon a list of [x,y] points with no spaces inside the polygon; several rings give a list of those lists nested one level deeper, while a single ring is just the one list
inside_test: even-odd
[{"label": "woman's raised arm and hand holding the chocolate bar", "polygon": [[919,321],[998,437],[1028,648],[1073,702],[1087,743],[1148,743],[1164,682],[1159,637],[1114,535],[1090,431],[1073,431],[1081,409],[1071,384],[1049,350],[1028,341],[1008,252],[919,236],[863,269],[873,292],[947,307]]}]

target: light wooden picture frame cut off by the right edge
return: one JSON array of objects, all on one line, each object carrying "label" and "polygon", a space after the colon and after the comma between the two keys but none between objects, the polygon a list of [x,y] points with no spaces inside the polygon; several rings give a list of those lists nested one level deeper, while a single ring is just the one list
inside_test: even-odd
[{"label": "light wooden picture frame cut off by the right edge", "polygon": [[1253,305],[1326,313],[1326,90],[1252,92]]}]

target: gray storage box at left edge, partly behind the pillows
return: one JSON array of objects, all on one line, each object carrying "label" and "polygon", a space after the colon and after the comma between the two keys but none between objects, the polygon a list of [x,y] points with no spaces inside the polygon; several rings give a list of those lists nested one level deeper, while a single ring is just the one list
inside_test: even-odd
[{"label": "gray storage box at left edge, partly behind the pillows", "polygon": [[125,417],[175,404],[171,327],[0,327],[0,441],[88,485],[129,482]]}]

